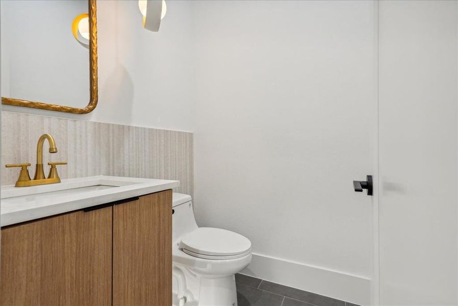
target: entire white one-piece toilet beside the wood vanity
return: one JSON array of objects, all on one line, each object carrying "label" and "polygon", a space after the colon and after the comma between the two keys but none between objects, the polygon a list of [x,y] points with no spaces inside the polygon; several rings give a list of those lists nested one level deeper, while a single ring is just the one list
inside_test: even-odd
[{"label": "entire white one-piece toilet beside the wood vanity", "polygon": [[251,261],[251,242],[198,227],[191,196],[173,193],[173,306],[237,306],[234,274]]}]

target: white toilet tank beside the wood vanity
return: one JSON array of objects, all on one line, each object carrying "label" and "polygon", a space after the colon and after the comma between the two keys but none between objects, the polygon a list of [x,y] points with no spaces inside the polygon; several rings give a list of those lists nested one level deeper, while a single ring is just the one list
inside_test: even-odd
[{"label": "white toilet tank beside the wood vanity", "polygon": [[192,209],[192,198],[183,193],[172,194],[172,242],[197,228]]}]

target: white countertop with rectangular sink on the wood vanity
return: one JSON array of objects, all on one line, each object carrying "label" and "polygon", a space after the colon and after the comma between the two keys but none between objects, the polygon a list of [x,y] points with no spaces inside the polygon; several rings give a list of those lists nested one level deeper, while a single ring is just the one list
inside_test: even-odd
[{"label": "white countertop with rectangular sink on the wood vanity", "polygon": [[89,176],[32,187],[2,186],[0,226],[49,217],[180,186],[180,181]]}]

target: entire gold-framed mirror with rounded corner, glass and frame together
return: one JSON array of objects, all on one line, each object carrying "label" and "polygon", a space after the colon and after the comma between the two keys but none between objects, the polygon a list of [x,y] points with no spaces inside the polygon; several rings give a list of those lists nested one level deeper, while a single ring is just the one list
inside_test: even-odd
[{"label": "entire gold-framed mirror with rounded corner, glass and frame together", "polygon": [[[6,12],[5,12],[5,15],[2,14],[2,19],[4,19],[5,17],[13,18],[10,16],[21,16],[23,18],[20,21],[18,20],[17,23],[15,23],[17,18],[16,19],[5,18],[7,21],[5,22],[5,24],[2,24],[2,28],[6,28],[5,32],[2,31],[3,32],[2,40],[4,39],[5,33],[7,34],[9,34],[9,32],[14,33],[9,36],[6,35],[7,43],[2,41],[2,44],[6,46],[5,48],[11,48],[11,50],[7,49],[7,51],[10,51],[11,58],[14,58],[14,59],[11,59],[11,58],[7,59],[8,63],[12,63],[11,64],[12,67],[9,67],[10,65],[6,65],[8,66],[5,69],[7,70],[7,72],[2,71],[2,79],[7,79],[7,82],[8,82],[7,84],[8,86],[4,86],[4,84],[2,84],[3,88],[7,88],[6,90],[3,90],[2,92],[2,104],[57,111],[57,112],[66,112],[66,113],[73,113],[73,114],[86,114],[95,109],[97,105],[97,101],[98,101],[97,16],[96,16],[97,6],[96,6],[96,0],[80,0],[80,3],[83,1],[87,2],[88,17],[89,17],[89,28],[88,28],[88,33],[86,33],[87,38],[88,38],[87,40],[88,45],[86,46],[84,46],[81,42],[77,41],[80,39],[78,39],[78,36],[77,36],[78,34],[74,33],[74,22],[73,24],[71,24],[73,17],[69,18],[70,16],[75,15],[73,11],[80,12],[80,14],[82,13],[81,5],[80,7],[75,8],[77,1],[71,1],[71,2],[62,1],[61,6],[59,7],[61,11],[58,11],[58,9],[55,7],[52,7],[50,9],[46,7],[46,12],[44,16],[40,15],[42,13],[34,13],[36,12],[36,8],[33,9],[32,7],[29,7],[29,5],[34,5],[34,3],[35,5],[39,5],[37,1],[25,3],[22,7],[17,6],[18,5],[17,2],[11,2],[12,4],[10,5],[10,7],[7,7],[6,9],[5,9],[6,5],[4,4],[4,6],[2,7],[2,11],[6,11]],[[16,7],[13,7],[13,4],[16,5]],[[43,1],[42,6],[40,6],[39,8],[45,9],[44,8],[45,6],[50,6],[50,5],[56,6],[59,4],[58,2],[55,2],[55,1],[50,1],[50,2]],[[67,7],[65,7],[65,5]],[[72,5],[73,7],[68,7],[70,5]],[[27,7],[24,7],[24,6],[27,6]],[[85,10],[84,7],[83,7],[83,10]],[[23,19],[28,19],[27,16],[23,16],[24,9],[29,10],[31,12],[30,14],[32,15],[31,19],[32,17],[36,17],[36,19],[38,20],[37,23],[39,24],[29,25],[28,22],[31,23],[30,20],[23,20]],[[68,10],[72,9],[73,11],[72,12],[65,11],[65,14],[60,14],[62,13],[62,10],[67,10],[67,9]],[[12,10],[13,12],[11,12]],[[15,14],[14,10],[16,11],[20,10],[20,12],[17,12],[16,15],[14,15]],[[22,15],[19,15],[19,14],[22,14]],[[49,17],[52,17],[52,18],[49,18]],[[61,19],[59,19],[58,17]],[[38,19],[38,18],[41,18],[41,19]],[[65,19],[62,19],[62,18],[65,18]],[[59,20],[59,23],[57,23],[58,20]],[[75,18],[74,20],[77,20],[77,18]],[[56,22],[56,24],[49,25],[48,23],[50,23],[51,21]],[[61,24],[61,23],[64,23],[64,24]],[[68,24],[71,24],[71,27],[67,27]],[[87,23],[86,23],[86,28],[87,28]],[[20,39],[24,40],[23,37],[27,37],[28,35],[28,34],[21,33],[20,31],[27,31],[27,30],[41,31],[43,33],[38,33],[38,34],[42,34],[43,37],[36,38],[39,35],[37,35],[37,33],[34,32],[33,35],[31,34],[28,36],[28,37],[36,38],[35,40],[33,40],[33,44],[30,43],[31,39],[29,39],[29,41],[20,41]],[[52,41],[53,45],[49,45],[50,43],[49,39],[53,38],[53,34],[54,34],[54,33],[49,33],[49,32],[54,31],[54,30],[55,31],[59,30],[62,33],[65,33],[65,41],[64,39],[62,39],[62,35],[58,36],[56,34],[55,35],[56,37],[54,39],[57,41]],[[72,31],[73,31],[73,35],[72,35]],[[71,38],[68,38],[67,35],[70,35]],[[9,37],[12,37],[10,38],[12,41],[8,40]],[[77,59],[75,59],[76,56],[72,57],[72,54],[68,54],[69,52],[66,52],[65,49],[63,49],[61,45],[63,45],[64,43],[67,45],[70,43],[74,44],[74,45],[71,45],[71,48],[75,48],[74,50],[78,50],[78,53],[79,53],[78,60],[80,62],[77,62]],[[32,44],[32,46],[30,44]],[[65,48],[66,50],[69,50],[69,46],[67,45],[65,46]],[[23,50],[24,46],[26,46],[27,48],[25,51]],[[43,58],[43,52],[40,54],[40,47],[42,50],[46,50],[45,52],[49,52],[51,54],[47,57],[49,63],[45,63],[45,62],[40,63],[40,60]],[[80,49],[76,49],[76,48],[80,48]],[[6,53],[8,55],[8,52],[4,52],[4,51],[5,49],[2,49],[2,53]],[[88,55],[83,53],[87,51],[88,51]],[[17,54],[22,56],[22,58],[18,58],[19,55]],[[33,58],[34,56],[36,58]],[[29,57],[32,57],[33,59],[30,59]],[[87,70],[87,68],[83,67],[84,62],[86,62],[87,59],[89,59],[89,69],[88,69],[89,71]],[[58,62],[58,60],[61,60],[61,62]],[[2,61],[4,61],[4,58],[2,58]],[[23,62],[26,62],[26,64],[24,64]],[[27,62],[34,64],[34,65],[36,62],[38,62],[38,64],[37,66],[34,66],[33,70],[32,68],[30,68],[32,71],[27,71],[26,69],[32,66],[32,65],[27,65]],[[73,65],[73,66],[70,66],[70,65]],[[76,67],[74,70],[78,70],[78,71],[72,70],[71,67]],[[3,65],[2,65],[2,68],[3,68]],[[21,69],[18,69],[18,68],[21,68],[22,70],[25,70],[25,71],[20,71]],[[84,70],[83,68],[86,70]],[[58,71],[53,71],[53,69],[58,70]],[[88,73],[89,82],[87,82],[87,72],[89,72]],[[7,74],[7,73],[10,73],[10,74]],[[37,75],[33,75],[32,77],[30,77],[29,74],[34,74],[34,73]],[[67,75],[65,75],[65,73],[67,73]],[[5,78],[6,74],[7,74],[7,78]],[[77,77],[74,76],[75,74],[78,74]],[[43,75],[45,75],[45,78],[46,78],[45,81],[47,83],[44,83],[44,81],[42,81]],[[65,79],[66,77],[68,78]],[[24,81],[22,82],[22,80]],[[17,84],[21,82],[23,84]],[[35,84],[38,84],[40,82],[42,82],[42,84],[35,86]],[[64,85],[62,85],[61,83]],[[58,84],[60,84],[60,86]],[[32,90],[29,90],[27,93],[24,93],[24,88],[29,88],[28,86],[29,87],[35,86],[35,89],[34,89],[35,92],[33,92]],[[81,93],[81,95],[78,95],[79,93],[75,94],[75,89],[72,88],[72,86],[77,87],[78,89],[80,89],[81,91],[84,91],[85,93]],[[65,88],[61,88],[61,87],[65,87]],[[88,94],[87,87],[89,87],[89,103],[86,105],[87,94]],[[5,91],[7,91],[6,92],[7,94],[4,94]],[[58,94],[58,91],[59,91],[59,94]],[[14,92],[16,94],[14,94]],[[4,96],[4,95],[8,95],[8,96]],[[27,98],[24,98],[24,96],[27,96]],[[35,96],[40,97],[39,99],[37,99],[38,101],[35,100],[34,98]],[[66,99],[67,97],[69,97],[68,100]],[[57,101],[55,99],[57,99]],[[73,101],[72,103],[68,103],[70,99],[77,100],[77,103],[82,104],[81,107],[78,107],[79,105],[73,105],[74,104]],[[84,101],[83,99],[85,99],[86,101]],[[54,104],[45,103],[45,101],[53,101]]]}]

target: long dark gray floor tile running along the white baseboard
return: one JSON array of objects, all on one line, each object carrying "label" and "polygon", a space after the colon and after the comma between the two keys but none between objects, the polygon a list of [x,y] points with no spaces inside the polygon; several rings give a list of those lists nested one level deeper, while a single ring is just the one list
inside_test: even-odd
[{"label": "long dark gray floor tile running along the white baseboard", "polygon": [[345,306],[345,302],[341,300],[267,281],[263,281],[259,289],[284,295],[316,306]]}]

